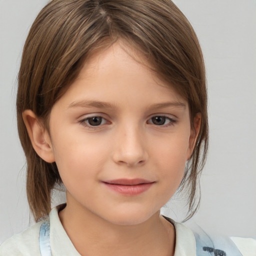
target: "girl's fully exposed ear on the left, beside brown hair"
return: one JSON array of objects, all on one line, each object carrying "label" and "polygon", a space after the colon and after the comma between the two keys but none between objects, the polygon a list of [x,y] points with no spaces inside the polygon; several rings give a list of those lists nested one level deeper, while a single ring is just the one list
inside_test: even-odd
[{"label": "girl's fully exposed ear on the left, beside brown hair", "polygon": [[37,116],[30,109],[22,117],[35,152],[46,162],[54,162],[54,154],[48,132],[42,128]]}]

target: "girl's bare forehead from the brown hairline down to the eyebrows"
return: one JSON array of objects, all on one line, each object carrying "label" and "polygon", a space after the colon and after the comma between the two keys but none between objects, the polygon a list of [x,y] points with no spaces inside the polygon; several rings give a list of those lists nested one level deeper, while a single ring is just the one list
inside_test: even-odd
[{"label": "girl's bare forehead from the brown hairline down to the eyebrows", "polygon": [[143,97],[155,102],[159,97],[167,100],[170,96],[173,101],[185,101],[149,65],[142,53],[127,43],[117,41],[97,50],[84,62],[67,92],[77,97],[80,91],[80,98],[97,95],[100,100],[111,99],[121,93],[125,98]]}]

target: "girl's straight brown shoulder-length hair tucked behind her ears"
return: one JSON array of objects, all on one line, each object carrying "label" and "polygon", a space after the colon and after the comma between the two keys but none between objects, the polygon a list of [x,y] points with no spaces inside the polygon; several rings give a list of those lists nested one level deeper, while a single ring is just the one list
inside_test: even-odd
[{"label": "girl's straight brown shoulder-length hair tucked behind her ears", "polygon": [[187,216],[198,207],[195,191],[208,142],[207,94],[201,49],[188,20],[170,0],[52,0],[27,36],[16,99],[18,133],[27,160],[27,198],[36,221],[49,213],[51,191],[61,179],[56,164],[34,151],[22,112],[31,109],[47,128],[51,107],[84,61],[118,38],[143,52],[152,69],[188,101],[191,125],[201,113],[195,148],[179,187],[189,192]]}]

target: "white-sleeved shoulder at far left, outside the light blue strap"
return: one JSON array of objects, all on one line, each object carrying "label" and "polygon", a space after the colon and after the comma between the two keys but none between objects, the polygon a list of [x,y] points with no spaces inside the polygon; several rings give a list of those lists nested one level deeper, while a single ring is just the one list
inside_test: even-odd
[{"label": "white-sleeved shoulder at far left, outside the light blue strap", "polygon": [[4,241],[0,245],[0,256],[40,255],[38,240],[41,223],[39,221]]}]

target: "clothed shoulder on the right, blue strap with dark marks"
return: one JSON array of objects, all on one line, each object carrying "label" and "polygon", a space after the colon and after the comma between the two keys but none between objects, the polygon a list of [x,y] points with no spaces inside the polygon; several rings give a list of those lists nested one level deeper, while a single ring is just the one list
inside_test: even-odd
[{"label": "clothed shoulder on the right, blue strap with dark marks", "polygon": [[175,227],[174,256],[256,256],[256,239],[210,234],[194,222],[165,218]]}]

